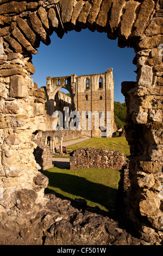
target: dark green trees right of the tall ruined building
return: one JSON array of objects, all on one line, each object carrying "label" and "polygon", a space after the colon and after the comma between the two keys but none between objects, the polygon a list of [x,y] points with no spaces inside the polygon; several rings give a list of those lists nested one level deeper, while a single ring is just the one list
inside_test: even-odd
[{"label": "dark green trees right of the tall ruined building", "polygon": [[114,119],[118,129],[123,128],[125,125],[126,111],[126,103],[114,102]]}]

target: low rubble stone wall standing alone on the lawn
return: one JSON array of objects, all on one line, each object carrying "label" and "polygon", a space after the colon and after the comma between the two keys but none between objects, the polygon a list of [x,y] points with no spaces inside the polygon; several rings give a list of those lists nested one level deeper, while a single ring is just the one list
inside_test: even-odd
[{"label": "low rubble stone wall standing alone on the lawn", "polygon": [[70,169],[108,168],[121,170],[127,157],[120,151],[94,148],[79,148],[70,154]]}]

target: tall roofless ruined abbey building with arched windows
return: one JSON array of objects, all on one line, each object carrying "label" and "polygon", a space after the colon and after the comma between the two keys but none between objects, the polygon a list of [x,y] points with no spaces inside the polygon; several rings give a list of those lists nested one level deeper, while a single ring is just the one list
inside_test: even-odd
[{"label": "tall roofless ruined abbey building with arched windows", "polygon": [[[61,88],[67,89],[71,97],[59,92]],[[71,113],[76,111],[79,113],[81,135],[111,137],[115,131],[112,68],[102,74],[47,77],[46,97],[47,130],[53,130],[55,111],[64,113],[64,129],[70,130]],[[65,107],[69,107],[66,128]],[[102,117],[101,124],[99,120]]]}]

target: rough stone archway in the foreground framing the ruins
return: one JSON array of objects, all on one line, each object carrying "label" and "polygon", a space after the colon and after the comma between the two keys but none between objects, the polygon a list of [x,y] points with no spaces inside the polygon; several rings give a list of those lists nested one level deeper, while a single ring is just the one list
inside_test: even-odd
[{"label": "rough stone archway in the foreground framing the ruins", "polygon": [[[24,223],[23,227],[32,230],[28,232],[29,239],[34,232],[32,226],[29,227],[29,219],[35,218],[36,212],[45,205],[51,205],[44,195],[41,179],[37,179],[39,172],[33,156],[35,145],[31,135],[44,129],[45,95],[30,77],[35,71],[32,54],[37,53],[40,41],[50,43],[49,35],[53,32],[62,38],[72,29],[89,28],[92,32],[106,32],[109,39],[118,36],[118,46],[135,49],[137,81],[122,83],[127,103],[126,138],[131,153],[131,187],[124,216],[142,239],[161,242],[162,52],[159,45],[163,42],[162,8],[159,0],[1,1],[0,209],[4,234],[8,230],[10,235],[15,232],[21,234],[21,239],[27,238],[20,224]],[[21,220],[19,224],[16,218]],[[48,215],[46,224],[47,219]],[[9,221],[13,230],[8,228]],[[43,237],[46,228],[40,230]],[[66,242],[73,243],[70,236]],[[1,237],[3,240],[3,235]],[[57,242],[54,237],[50,240]]]}]

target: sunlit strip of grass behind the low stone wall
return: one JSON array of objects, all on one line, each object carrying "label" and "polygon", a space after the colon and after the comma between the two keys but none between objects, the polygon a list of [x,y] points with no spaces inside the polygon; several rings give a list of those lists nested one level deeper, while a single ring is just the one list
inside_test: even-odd
[{"label": "sunlit strip of grass behind the low stone wall", "polygon": [[130,149],[126,138],[116,137],[116,138],[90,138],[84,142],[76,143],[67,147],[67,149],[76,150],[78,148],[102,148],[119,150],[124,153],[125,156],[130,155]]}]

